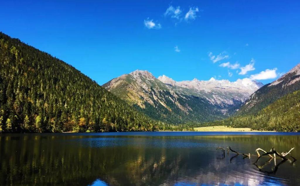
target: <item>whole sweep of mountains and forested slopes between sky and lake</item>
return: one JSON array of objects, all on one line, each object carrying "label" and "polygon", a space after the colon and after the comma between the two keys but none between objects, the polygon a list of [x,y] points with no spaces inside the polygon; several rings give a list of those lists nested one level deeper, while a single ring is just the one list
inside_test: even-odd
[{"label": "whole sweep of mountains and forested slopes between sky and lake", "polygon": [[174,81],[136,70],[100,86],[2,32],[0,62],[0,133],[191,130],[196,125],[300,131],[300,64],[266,85],[248,78]]}]

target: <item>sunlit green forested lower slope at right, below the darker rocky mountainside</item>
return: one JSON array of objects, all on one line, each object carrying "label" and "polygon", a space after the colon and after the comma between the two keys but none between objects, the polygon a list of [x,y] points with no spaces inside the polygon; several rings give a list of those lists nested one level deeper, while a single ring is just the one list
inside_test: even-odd
[{"label": "sunlit green forested lower slope at right, below the darker rocky mountainside", "polygon": [[263,108],[258,114],[239,115],[206,125],[251,127],[254,130],[300,132],[300,91],[290,93]]}]

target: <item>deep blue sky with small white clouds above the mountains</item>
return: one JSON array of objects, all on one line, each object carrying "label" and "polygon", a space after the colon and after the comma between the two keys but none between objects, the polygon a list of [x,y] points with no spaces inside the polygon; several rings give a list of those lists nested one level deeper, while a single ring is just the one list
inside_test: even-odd
[{"label": "deep blue sky with small white clouds above the mountains", "polygon": [[7,0],[0,31],[99,84],[136,69],[268,83],[300,63],[299,10],[300,1]]}]

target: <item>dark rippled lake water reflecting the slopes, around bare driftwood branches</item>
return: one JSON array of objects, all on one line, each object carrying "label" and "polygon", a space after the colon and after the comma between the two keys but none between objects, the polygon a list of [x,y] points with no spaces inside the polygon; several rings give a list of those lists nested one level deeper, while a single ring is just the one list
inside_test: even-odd
[{"label": "dark rippled lake water reflecting the slopes, around bare driftwood branches", "polygon": [[0,134],[0,185],[300,185],[300,160],[251,164],[272,146],[300,159],[299,133]]}]

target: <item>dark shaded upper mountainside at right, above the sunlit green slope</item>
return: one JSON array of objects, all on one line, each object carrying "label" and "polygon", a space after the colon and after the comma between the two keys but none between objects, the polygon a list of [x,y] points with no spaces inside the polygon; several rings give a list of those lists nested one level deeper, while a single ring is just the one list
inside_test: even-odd
[{"label": "dark shaded upper mountainside at right, above the sunlit green slope", "polygon": [[300,90],[300,64],[271,84],[258,89],[244,102],[237,114],[256,114],[277,99]]}]

